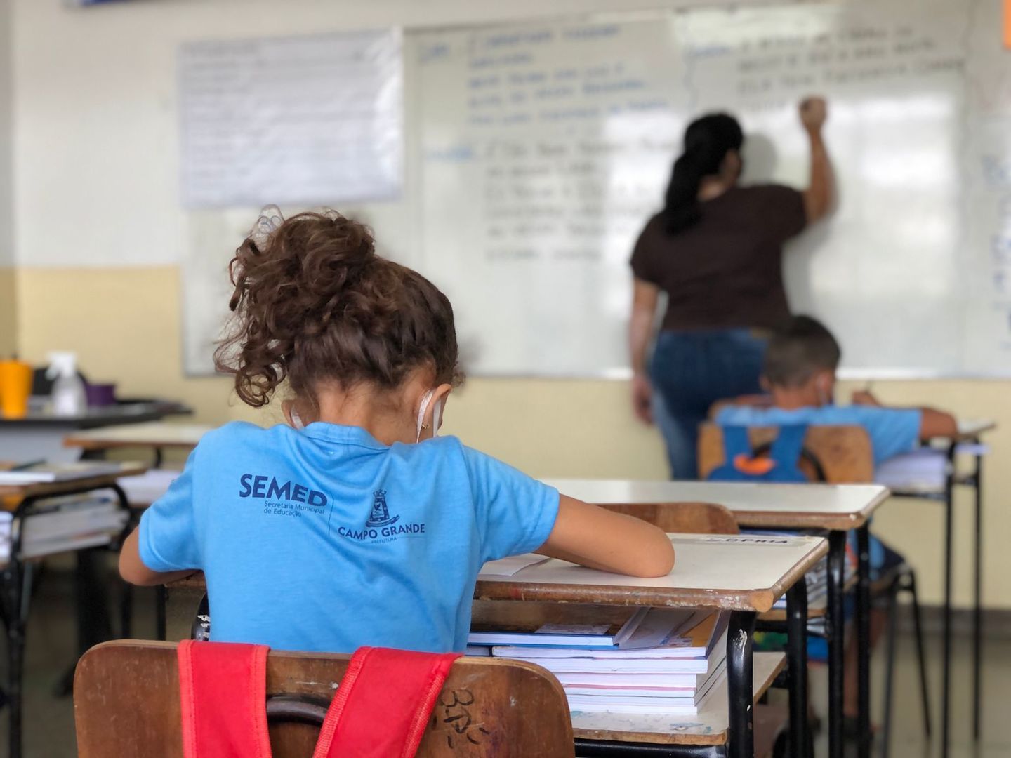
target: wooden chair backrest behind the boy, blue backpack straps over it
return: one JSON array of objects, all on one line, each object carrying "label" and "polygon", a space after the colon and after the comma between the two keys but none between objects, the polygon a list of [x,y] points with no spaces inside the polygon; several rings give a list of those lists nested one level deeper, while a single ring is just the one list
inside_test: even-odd
[{"label": "wooden chair backrest behind the boy, blue backpack straps over it", "polygon": [[[754,449],[775,439],[776,427],[753,427],[748,439]],[[821,466],[825,481],[833,484],[854,484],[874,480],[875,462],[870,438],[857,425],[808,427],[804,449]],[[705,479],[725,463],[723,431],[715,423],[704,423],[699,431],[699,475]],[[811,481],[818,475],[810,461],[802,459],[801,470]]]}]

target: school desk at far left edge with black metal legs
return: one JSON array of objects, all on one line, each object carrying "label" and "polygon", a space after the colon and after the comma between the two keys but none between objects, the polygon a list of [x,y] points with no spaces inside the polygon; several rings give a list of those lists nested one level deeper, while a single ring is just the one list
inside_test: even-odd
[{"label": "school desk at far left edge with black metal legs", "polygon": [[[143,474],[147,468],[140,463],[123,463],[118,471],[100,476],[92,476],[86,479],[75,479],[67,482],[54,482],[51,484],[0,484],[0,497],[19,497],[20,502],[14,511],[14,518],[11,523],[11,545],[10,559],[3,567],[3,612],[7,626],[7,656],[8,656],[8,685],[7,697],[10,708],[10,732],[9,755],[10,758],[19,758],[21,755],[21,697],[22,680],[24,675],[24,628],[28,619],[28,601],[31,597],[28,580],[30,574],[25,570],[25,564],[21,559],[21,530],[19,529],[21,519],[30,513],[31,507],[47,497],[59,495],[83,494],[102,489],[110,489],[115,492],[119,499],[119,504],[124,510],[129,510],[129,503],[126,495],[116,483],[121,476],[135,476]],[[125,534],[123,535],[125,537]],[[81,653],[92,645],[102,640],[92,639],[95,637],[96,613],[107,612],[104,607],[103,596],[94,595],[94,579],[87,576],[90,566],[81,558],[87,551],[78,551],[78,618],[79,618],[79,640],[82,646]],[[88,586],[86,586],[88,585]],[[91,596],[94,595],[94,596]],[[95,607],[95,602],[101,607]]]}]

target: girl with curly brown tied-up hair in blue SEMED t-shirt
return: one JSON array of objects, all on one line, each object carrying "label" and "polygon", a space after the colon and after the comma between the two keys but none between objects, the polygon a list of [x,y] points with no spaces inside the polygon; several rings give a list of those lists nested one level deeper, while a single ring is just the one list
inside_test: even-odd
[{"label": "girl with curly brown tied-up hair in blue SEMED t-shirt", "polygon": [[226,424],[123,546],[119,570],[206,575],[212,639],[288,650],[463,650],[481,565],[537,552],[608,571],[670,571],[645,522],[560,496],[455,438],[453,308],[337,213],[271,208],[231,265],[216,354],[239,396],[287,384],[286,424]]}]

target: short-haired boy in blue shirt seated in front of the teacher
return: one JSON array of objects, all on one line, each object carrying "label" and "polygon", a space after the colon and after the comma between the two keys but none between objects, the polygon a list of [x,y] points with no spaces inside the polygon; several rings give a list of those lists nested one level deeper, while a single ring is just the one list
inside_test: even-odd
[{"label": "short-haired boy in blue shirt seated in front of the teacher", "polygon": [[799,315],[777,330],[765,352],[762,384],[769,397],[741,398],[721,407],[724,427],[854,424],[870,438],[875,465],[908,453],[920,442],[957,432],[950,413],[933,408],[883,406],[869,392],[854,392],[852,404],[834,404],[835,372],[842,353],[824,325]]}]

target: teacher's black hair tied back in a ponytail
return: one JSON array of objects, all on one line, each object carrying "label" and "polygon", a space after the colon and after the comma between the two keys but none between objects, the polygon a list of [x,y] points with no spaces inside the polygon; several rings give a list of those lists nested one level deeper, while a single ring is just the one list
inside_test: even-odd
[{"label": "teacher's black hair tied back in a ponytail", "polygon": [[741,124],[728,113],[710,113],[688,124],[684,152],[674,161],[667,185],[663,208],[667,231],[680,231],[699,220],[699,185],[703,177],[719,174],[723,159],[743,144]]}]

